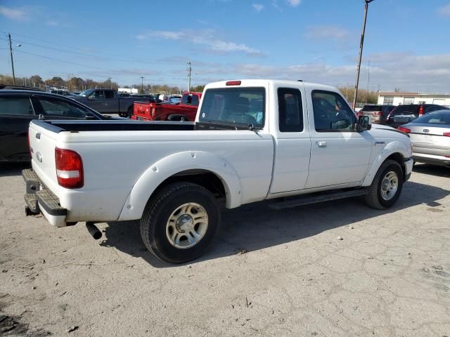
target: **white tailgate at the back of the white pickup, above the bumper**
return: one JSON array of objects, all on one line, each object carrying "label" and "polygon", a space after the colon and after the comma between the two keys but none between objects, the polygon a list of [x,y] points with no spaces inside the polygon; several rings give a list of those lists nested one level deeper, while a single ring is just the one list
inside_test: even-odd
[{"label": "white tailgate at the back of the white pickup, above the bumper", "polygon": [[30,123],[30,151],[32,167],[42,182],[58,195],[59,185],[56,178],[55,147],[58,133]]}]

